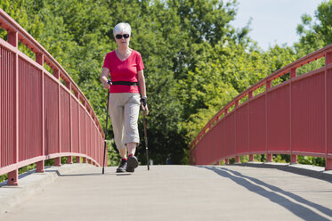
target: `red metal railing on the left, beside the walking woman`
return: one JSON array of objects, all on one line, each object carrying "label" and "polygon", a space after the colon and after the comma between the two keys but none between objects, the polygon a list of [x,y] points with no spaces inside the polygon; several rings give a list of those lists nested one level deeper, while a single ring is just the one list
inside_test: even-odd
[{"label": "red metal railing on the left, beside the walking woman", "polygon": [[[102,165],[104,135],[101,125],[69,74],[27,31],[0,9],[0,175],[18,184],[18,168],[36,163],[43,172],[45,160],[61,157]],[[26,45],[36,61],[21,53]],[[45,63],[53,73],[45,70]],[[62,84],[65,82],[65,84]],[[107,159],[106,159],[107,162]]]}]

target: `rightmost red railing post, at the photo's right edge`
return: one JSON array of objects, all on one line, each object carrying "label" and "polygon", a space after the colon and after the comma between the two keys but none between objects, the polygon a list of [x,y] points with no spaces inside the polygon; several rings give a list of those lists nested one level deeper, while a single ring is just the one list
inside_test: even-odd
[{"label": "rightmost red railing post, at the photo's right edge", "polygon": [[[332,154],[332,142],[328,141],[328,135],[331,135],[331,94],[328,93],[328,64],[332,63],[332,52],[328,52],[325,54],[325,169],[332,169],[332,159],[328,158],[328,154]],[[330,86],[331,83],[329,83]],[[330,152],[328,152],[330,151]]]}]

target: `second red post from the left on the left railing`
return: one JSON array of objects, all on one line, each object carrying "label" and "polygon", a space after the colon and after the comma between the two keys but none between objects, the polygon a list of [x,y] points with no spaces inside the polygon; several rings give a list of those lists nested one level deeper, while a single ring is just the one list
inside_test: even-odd
[{"label": "second red post from the left on the left railing", "polygon": [[[44,66],[44,54],[36,53],[36,62],[42,67]],[[45,96],[44,96],[44,71],[42,70],[42,151],[41,154],[45,156]],[[36,172],[44,173],[45,172],[45,160],[40,160],[36,162]]]}]

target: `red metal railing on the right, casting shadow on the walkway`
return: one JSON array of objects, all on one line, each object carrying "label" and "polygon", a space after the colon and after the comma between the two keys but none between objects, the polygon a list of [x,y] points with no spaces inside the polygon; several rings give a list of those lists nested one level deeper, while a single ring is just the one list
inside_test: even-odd
[{"label": "red metal railing on the right, casting shadow on the walkway", "polygon": [[[296,69],[325,57],[325,66],[296,76]],[[290,74],[290,79],[271,86],[271,81]],[[258,88],[265,92],[253,96]],[[243,100],[242,100],[243,99]],[[239,104],[242,100],[246,102]],[[231,111],[230,111],[231,110]],[[191,143],[192,164],[219,160],[239,162],[239,156],[290,154],[326,159],[332,169],[332,45],[294,61],[247,88],[229,102]]]}]

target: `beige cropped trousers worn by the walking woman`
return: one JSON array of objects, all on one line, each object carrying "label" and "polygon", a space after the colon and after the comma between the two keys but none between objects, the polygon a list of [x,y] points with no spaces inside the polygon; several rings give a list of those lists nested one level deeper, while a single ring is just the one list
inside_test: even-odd
[{"label": "beige cropped trousers worn by the walking woman", "polygon": [[134,93],[109,94],[109,117],[117,150],[126,148],[126,143],[140,143],[137,125],[140,99],[140,94]]}]

